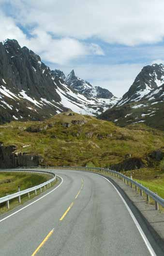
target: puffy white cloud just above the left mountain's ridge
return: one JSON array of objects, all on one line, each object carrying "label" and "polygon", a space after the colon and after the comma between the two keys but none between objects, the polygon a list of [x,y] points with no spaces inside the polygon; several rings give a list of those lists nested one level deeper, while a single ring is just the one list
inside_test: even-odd
[{"label": "puffy white cloud just above the left mountain's ridge", "polygon": [[70,60],[86,55],[104,55],[97,44],[80,42],[70,37],[53,38],[50,33],[37,27],[31,31],[28,38],[15,24],[15,19],[6,17],[0,12],[0,41],[6,38],[16,39],[20,46],[27,46],[41,55],[44,61],[65,64]]}]

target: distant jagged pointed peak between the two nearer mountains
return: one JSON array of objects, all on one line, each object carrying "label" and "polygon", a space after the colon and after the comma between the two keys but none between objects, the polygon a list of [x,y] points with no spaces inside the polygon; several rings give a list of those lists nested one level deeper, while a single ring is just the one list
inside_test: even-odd
[{"label": "distant jagged pointed peak between the two nearer mountains", "polygon": [[103,98],[103,99],[115,99],[114,95],[107,89],[101,88],[99,86],[93,87],[89,82],[80,79],[75,75],[75,71],[72,70],[71,73],[65,79],[66,83],[74,88],[76,91],[83,93],[87,97]]}]

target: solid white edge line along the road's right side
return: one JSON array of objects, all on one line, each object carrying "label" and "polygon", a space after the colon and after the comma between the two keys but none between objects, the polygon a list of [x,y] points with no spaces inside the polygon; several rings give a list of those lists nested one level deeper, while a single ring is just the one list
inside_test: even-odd
[{"label": "solid white edge line along the road's right side", "polygon": [[[96,173],[95,173],[95,174],[96,174]],[[115,185],[114,185],[113,183],[111,183],[107,178],[103,177],[103,176],[100,175],[100,174],[96,174],[96,175],[101,176],[102,178],[104,178],[106,181],[108,181],[108,182],[114,187],[114,189],[115,189],[115,190],[117,191],[117,193],[119,194],[119,197],[120,197],[121,200],[124,202],[124,204],[125,204],[125,206],[126,206],[128,212],[130,213],[132,219],[134,220],[134,223],[135,223],[135,225],[136,225],[136,227],[137,227],[137,229],[138,229],[138,231],[139,231],[141,237],[143,238],[143,240],[144,240],[144,242],[145,242],[145,244],[146,244],[146,246],[147,246],[147,248],[148,248],[148,250],[149,250],[150,255],[151,255],[151,256],[157,256],[156,253],[154,252],[154,250],[153,250],[151,244],[149,243],[149,240],[148,240],[148,238],[146,237],[144,231],[142,230],[140,224],[138,223],[138,221],[137,221],[137,219],[135,218],[133,212],[132,212],[131,209],[129,208],[127,202],[124,200],[124,198],[122,197],[122,195],[119,193],[119,190],[118,190],[118,189],[115,187]]]}]

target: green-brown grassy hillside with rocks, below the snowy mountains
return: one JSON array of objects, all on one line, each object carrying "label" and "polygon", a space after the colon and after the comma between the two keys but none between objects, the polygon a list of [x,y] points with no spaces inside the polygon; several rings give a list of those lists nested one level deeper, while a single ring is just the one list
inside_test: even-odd
[{"label": "green-brown grassy hillside with rocks, below the snowy mountains", "polygon": [[164,146],[164,133],[145,125],[120,128],[91,116],[65,112],[44,122],[11,122],[0,126],[0,141],[16,153],[42,155],[43,165],[116,164],[126,154],[143,158]]}]

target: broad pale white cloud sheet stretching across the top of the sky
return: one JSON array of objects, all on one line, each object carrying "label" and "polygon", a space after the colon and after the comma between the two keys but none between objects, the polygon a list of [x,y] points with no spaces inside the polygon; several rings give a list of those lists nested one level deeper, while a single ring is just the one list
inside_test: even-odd
[{"label": "broad pale white cloud sheet stretching across the top of the sky", "polygon": [[8,1],[16,6],[22,25],[36,24],[60,37],[96,37],[130,46],[164,37],[162,0]]}]

